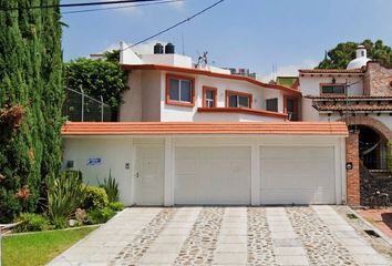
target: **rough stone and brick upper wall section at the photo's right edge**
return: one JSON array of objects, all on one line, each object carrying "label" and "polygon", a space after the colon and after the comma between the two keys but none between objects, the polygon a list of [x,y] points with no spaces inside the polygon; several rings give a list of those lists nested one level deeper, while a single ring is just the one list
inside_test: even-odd
[{"label": "rough stone and brick upper wall section at the photo's right edge", "polygon": [[369,62],[364,74],[363,93],[371,96],[392,96],[392,69]]}]

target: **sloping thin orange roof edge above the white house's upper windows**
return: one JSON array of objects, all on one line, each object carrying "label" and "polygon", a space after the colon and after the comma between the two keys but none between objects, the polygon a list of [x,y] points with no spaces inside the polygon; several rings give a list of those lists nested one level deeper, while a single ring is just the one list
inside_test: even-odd
[{"label": "sloping thin orange roof edge above the white house's upper windows", "polygon": [[228,80],[238,80],[238,81],[246,81],[254,85],[267,88],[267,89],[276,89],[287,92],[291,95],[300,96],[301,92],[297,89],[292,89],[286,85],[279,84],[269,84],[258,81],[256,79],[244,76],[244,75],[235,75],[235,74],[224,74],[224,73],[216,73],[207,70],[199,70],[199,69],[187,69],[187,68],[178,68],[173,65],[163,65],[163,64],[122,64],[123,70],[161,70],[161,71],[172,71],[178,73],[186,73],[186,74],[199,74],[213,78],[220,78],[220,79],[228,79]]}]

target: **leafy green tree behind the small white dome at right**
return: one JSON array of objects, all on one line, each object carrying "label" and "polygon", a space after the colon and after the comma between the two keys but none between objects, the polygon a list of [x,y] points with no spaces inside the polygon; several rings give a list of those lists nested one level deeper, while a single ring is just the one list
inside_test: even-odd
[{"label": "leafy green tree behind the small white dome at right", "polygon": [[324,59],[319,63],[317,69],[345,69],[349,62],[355,58],[355,50],[359,44],[363,44],[367,48],[368,58],[379,61],[386,68],[392,68],[392,49],[381,40],[374,43],[371,40],[364,40],[361,43],[339,43],[336,48],[326,52]]}]

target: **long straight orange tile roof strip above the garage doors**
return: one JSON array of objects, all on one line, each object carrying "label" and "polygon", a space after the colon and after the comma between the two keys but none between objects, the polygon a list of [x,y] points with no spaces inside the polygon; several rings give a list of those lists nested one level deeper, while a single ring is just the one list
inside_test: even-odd
[{"label": "long straight orange tile roof strip above the garage doors", "polygon": [[343,122],[68,122],[63,135],[348,135]]}]

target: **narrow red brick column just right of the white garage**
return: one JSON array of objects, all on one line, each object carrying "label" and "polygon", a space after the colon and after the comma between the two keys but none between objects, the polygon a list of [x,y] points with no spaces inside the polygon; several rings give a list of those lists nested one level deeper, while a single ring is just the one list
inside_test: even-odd
[{"label": "narrow red brick column just right of the white garage", "polygon": [[361,193],[358,133],[350,133],[345,139],[345,162],[352,163],[352,168],[347,170],[347,203],[359,206]]}]

